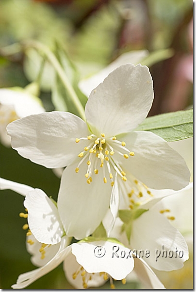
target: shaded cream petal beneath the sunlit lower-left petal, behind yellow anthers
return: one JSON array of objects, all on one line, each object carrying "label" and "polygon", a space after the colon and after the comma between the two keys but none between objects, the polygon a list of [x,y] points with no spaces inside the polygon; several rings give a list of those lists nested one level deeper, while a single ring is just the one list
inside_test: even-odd
[{"label": "shaded cream petal beneath the sunlit lower-left petal, behind yellow anthers", "polygon": [[[32,240],[33,244],[28,243],[27,240]],[[33,263],[33,265],[37,267],[45,266],[57,254],[60,248],[60,243],[46,246],[44,249],[46,252],[44,258],[41,257],[42,255],[39,251],[41,247],[42,247],[42,243],[37,241],[35,237],[33,236],[33,234],[30,236],[27,236],[26,248],[27,248],[28,253],[32,255],[31,262]]]}]

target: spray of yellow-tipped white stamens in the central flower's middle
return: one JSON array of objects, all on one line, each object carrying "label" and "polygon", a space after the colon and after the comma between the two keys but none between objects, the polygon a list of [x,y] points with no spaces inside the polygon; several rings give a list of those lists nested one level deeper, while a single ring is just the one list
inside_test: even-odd
[{"label": "spray of yellow-tipped white stamens in the central flower's middle", "polygon": [[[78,154],[81,161],[75,171],[78,173],[80,170],[80,165],[86,161],[87,171],[85,173],[85,177],[88,184],[93,181],[92,176],[94,174],[97,175],[101,169],[104,183],[107,183],[108,179],[110,179],[111,186],[113,186],[113,178],[116,173],[122,178],[123,182],[127,181],[125,171],[118,163],[118,159],[115,159],[115,154],[116,157],[122,156],[125,159],[128,159],[130,156],[134,156],[134,152],[125,147],[126,143],[124,141],[121,142],[117,140],[115,136],[106,139],[104,133],[101,133],[100,137],[92,134],[87,137],[76,138],[75,142],[79,143],[81,140],[88,141],[88,144],[83,148],[82,152]],[[108,175],[106,175],[106,173]]]}]

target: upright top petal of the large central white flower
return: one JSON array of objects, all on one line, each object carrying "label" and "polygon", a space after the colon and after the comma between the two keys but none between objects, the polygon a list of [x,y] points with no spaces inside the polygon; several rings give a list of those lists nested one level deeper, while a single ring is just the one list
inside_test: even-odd
[{"label": "upright top petal of the large central white flower", "polygon": [[86,120],[98,135],[126,133],[146,118],[152,101],[152,78],[148,68],[123,65],[91,92],[85,107]]}]

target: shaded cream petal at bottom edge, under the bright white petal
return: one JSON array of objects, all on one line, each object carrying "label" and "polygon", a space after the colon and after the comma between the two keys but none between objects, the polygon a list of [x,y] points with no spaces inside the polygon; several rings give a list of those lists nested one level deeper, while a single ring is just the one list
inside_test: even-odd
[{"label": "shaded cream petal at bottom edge, under the bright white petal", "polygon": [[[75,274],[78,270],[80,270],[81,265],[76,260],[76,257],[73,254],[70,254],[65,258],[65,261],[63,263],[63,268],[65,272],[66,279],[68,282],[75,287],[76,289],[84,289],[83,288],[83,281],[82,281],[82,271],[77,275],[75,279],[73,279],[72,275]],[[91,279],[89,279],[91,276]],[[99,287],[105,283],[105,280],[103,277],[101,277],[99,274],[89,274],[85,273],[86,282],[88,285],[88,288],[90,287]],[[89,280],[88,280],[89,279]]]}]

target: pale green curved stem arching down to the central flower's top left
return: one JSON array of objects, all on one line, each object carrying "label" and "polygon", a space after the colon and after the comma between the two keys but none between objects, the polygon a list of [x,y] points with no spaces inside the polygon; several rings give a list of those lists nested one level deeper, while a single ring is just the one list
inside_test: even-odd
[{"label": "pale green curved stem arching down to the central flower's top left", "polygon": [[49,62],[51,63],[51,65],[54,67],[54,69],[58,73],[59,77],[61,78],[61,81],[63,82],[63,84],[64,84],[68,94],[70,95],[76,109],[78,110],[81,118],[85,121],[85,114],[84,114],[84,109],[82,107],[82,104],[81,104],[76,92],[74,91],[72,85],[70,84],[70,82],[69,82],[63,68],[61,67],[59,61],[57,60],[56,56],[49,50],[49,48],[47,46],[45,46],[42,43],[39,43],[38,41],[35,41],[35,40],[25,41],[25,42],[23,42],[23,45],[24,45],[24,47],[34,48],[47,56]]}]

